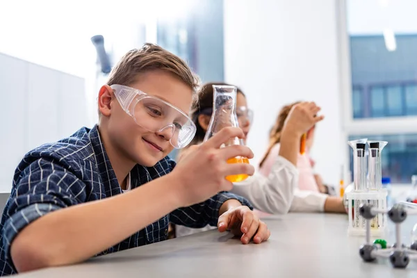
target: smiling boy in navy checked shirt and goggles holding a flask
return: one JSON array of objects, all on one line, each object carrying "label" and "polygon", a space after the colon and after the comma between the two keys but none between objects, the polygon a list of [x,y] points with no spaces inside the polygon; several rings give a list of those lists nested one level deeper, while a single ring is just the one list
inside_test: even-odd
[{"label": "smiling boy in navy checked shirt and goggles holding a flask", "polygon": [[226,163],[252,158],[250,149],[220,148],[243,131],[224,129],[175,169],[166,157],[195,134],[188,113],[196,87],[186,63],[161,47],[129,51],[99,91],[99,124],[19,163],[0,224],[1,275],[165,240],[170,221],[217,224],[242,243],[267,240],[268,228],[245,199],[219,193],[232,187],[227,175],[254,172]]}]

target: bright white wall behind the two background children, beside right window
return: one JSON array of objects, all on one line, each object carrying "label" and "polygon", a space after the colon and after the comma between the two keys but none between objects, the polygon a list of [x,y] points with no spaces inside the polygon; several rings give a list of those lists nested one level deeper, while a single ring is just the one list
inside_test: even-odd
[{"label": "bright white wall behind the two background children, beside right window", "polygon": [[341,134],[336,0],[224,0],[225,80],[254,109],[248,138],[258,165],[281,106],[316,101],[313,158],[325,181],[338,183],[347,142]]}]

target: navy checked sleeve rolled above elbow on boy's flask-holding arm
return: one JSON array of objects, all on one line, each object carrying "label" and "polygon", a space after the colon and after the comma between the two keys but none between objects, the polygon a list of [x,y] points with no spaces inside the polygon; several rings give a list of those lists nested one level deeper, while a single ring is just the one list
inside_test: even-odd
[{"label": "navy checked sleeve rolled above elbow on boy's flask-holding arm", "polygon": [[85,202],[85,183],[66,167],[47,158],[40,158],[22,171],[4,211],[3,248],[6,261],[10,244],[24,227],[60,208]]}]

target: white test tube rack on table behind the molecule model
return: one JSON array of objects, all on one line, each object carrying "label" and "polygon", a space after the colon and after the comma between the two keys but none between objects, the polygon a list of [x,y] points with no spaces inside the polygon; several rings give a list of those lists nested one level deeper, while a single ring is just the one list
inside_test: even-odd
[{"label": "white test tube rack on table behind the molecule model", "polygon": [[[359,208],[363,204],[370,204],[381,211],[386,210],[387,191],[368,190],[365,192],[348,192],[346,193],[347,211],[349,215],[349,226],[347,234],[349,236],[366,236],[366,219],[362,217]],[[354,204],[357,204],[356,206]],[[386,233],[388,220],[386,214],[375,215],[370,222],[370,234],[372,236],[382,236]]]}]

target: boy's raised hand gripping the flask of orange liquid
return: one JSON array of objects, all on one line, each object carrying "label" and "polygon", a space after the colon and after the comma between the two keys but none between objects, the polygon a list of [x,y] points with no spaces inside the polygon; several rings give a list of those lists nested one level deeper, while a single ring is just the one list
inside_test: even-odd
[{"label": "boy's raised hand gripping the flask of orange liquid", "polygon": [[173,182],[177,186],[177,197],[181,206],[203,202],[220,191],[229,191],[233,183],[226,176],[232,174],[254,174],[250,164],[228,164],[235,156],[253,158],[252,151],[245,146],[220,146],[230,138],[244,138],[242,129],[226,127],[202,145],[187,150],[172,171]]}]

